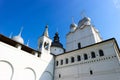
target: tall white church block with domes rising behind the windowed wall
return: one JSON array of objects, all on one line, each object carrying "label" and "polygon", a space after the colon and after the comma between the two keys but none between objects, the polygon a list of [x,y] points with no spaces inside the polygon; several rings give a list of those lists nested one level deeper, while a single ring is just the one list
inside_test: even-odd
[{"label": "tall white church block with domes rising behind the windowed wall", "polygon": [[66,35],[66,51],[80,49],[100,41],[102,39],[98,30],[91,24],[91,19],[84,17],[78,22],[77,28]]}]

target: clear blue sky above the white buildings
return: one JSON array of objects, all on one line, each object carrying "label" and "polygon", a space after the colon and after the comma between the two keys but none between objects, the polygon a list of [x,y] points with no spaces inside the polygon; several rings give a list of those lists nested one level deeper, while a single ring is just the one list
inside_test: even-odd
[{"label": "clear blue sky above the white buildings", "polygon": [[77,24],[81,13],[90,17],[103,40],[115,37],[120,45],[120,0],[0,0],[0,33],[17,35],[23,26],[25,44],[36,49],[45,25],[49,35],[59,32],[65,47],[65,37],[72,23]]}]

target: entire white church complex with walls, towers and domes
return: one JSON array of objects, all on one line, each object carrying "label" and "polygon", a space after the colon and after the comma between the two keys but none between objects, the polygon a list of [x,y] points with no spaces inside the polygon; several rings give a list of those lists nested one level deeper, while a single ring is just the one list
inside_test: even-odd
[{"label": "entire white church complex with walls, towers and domes", "polygon": [[70,25],[66,49],[58,33],[49,38],[48,26],[36,50],[21,32],[0,34],[0,80],[120,80],[120,50],[114,38],[102,40],[89,17]]}]

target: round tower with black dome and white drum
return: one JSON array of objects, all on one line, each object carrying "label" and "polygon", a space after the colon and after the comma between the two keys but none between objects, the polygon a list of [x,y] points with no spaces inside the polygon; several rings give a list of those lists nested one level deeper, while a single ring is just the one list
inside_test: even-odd
[{"label": "round tower with black dome and white drum", "polygon": [[64,48],[60,43],[58,32],[55,33],[54,40],[51,45],[51,53],[54,55],[64,53]]}]

